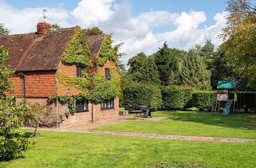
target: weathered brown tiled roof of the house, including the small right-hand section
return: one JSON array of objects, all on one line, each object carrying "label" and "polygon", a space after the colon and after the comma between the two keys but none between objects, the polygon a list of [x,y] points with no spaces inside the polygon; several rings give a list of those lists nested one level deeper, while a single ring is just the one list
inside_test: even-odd
[{"label": "weathered brown tiled roof of the house, including the small right-hand section", "polygon": [[[74,34],[75,27],[49,31],[45,37],[34,39],[34,33],[0,37],[0,45],[10,47],[8,65],[16,71],[56,70],[66,44]],[[98,53],[104,35],[88,36],[86,42],[92,54]],[[12,40],[12,44],[10,43]],[[18,45],[15,45],[15,44]],[[22,49],[22,50],[20,50]]]}]

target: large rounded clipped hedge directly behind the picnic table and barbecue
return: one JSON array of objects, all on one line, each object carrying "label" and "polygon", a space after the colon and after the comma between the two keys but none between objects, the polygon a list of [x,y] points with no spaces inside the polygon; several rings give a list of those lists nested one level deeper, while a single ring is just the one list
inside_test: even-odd
[{"label": "large rounded clipped hedge directly behind the picnic table and barbecue", "polygon": [[141,105],[150,105],[153,110],[161,106],[161,92],[150,84],[134,83],[123,89],[123,106],[128,110],[137,110]]}]

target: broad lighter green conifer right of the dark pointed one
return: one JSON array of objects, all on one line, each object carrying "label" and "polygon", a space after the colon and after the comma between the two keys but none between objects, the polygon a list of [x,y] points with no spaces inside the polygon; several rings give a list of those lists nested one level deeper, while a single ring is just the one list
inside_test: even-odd
[{"label": "broad lighter green conifer right of the dark pointed one", "polygon": [[199,52],[190,49],[180,69],[180,78],[183,85],[194,87],[198,90],[210,90],[210,72]]}]

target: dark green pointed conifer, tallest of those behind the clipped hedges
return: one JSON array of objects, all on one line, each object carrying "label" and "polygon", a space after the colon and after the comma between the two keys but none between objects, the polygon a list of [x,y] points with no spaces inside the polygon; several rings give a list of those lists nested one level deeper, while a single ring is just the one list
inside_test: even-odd
[{"label": "dark green pointed conifer, tallest of those behind the clipped hedges", "polygon": [[163,47],[154,54],[155,63],[157,65],[158,73],[162,85],[170,85],[170,78],[173,73],[176,73],[178,68],[178,58],[170,51],[166,42]]}]

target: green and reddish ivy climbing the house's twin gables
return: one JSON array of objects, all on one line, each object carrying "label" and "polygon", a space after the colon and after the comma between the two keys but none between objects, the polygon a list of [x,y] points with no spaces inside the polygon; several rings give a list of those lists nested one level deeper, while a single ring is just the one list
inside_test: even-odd
[{"label": "green and reddish ivy climbing the house's twin gables", "polygon": [[[49,97],[50,101],[59,101],[62,105],[69,107],[70,113],[75,112],[75,101],[81,99],[91,100],[93,102],[102,102],[112,99],[120,95],[120,74],[117,67],[111,68],[112,79],[109,81],[103,75],[100,75],[100,67],[106,61],[111,61],[116,64],[117,58],[111,45],[109,35],[105,35],[98,54],[92,55],[91,51],[85,42],[83,31],[79,26],[76,26],[75,33],[71,40],[67,43],[65,53],[60,58],[64,65],[82,66],[84,70],[81,72],[83,77],[69,76],[57,71],[58,82],[65,86],[73,86],[76,89],[83,91],[76,96],[56,96]],[[113,75],[112,71],[118,72]]]}]

